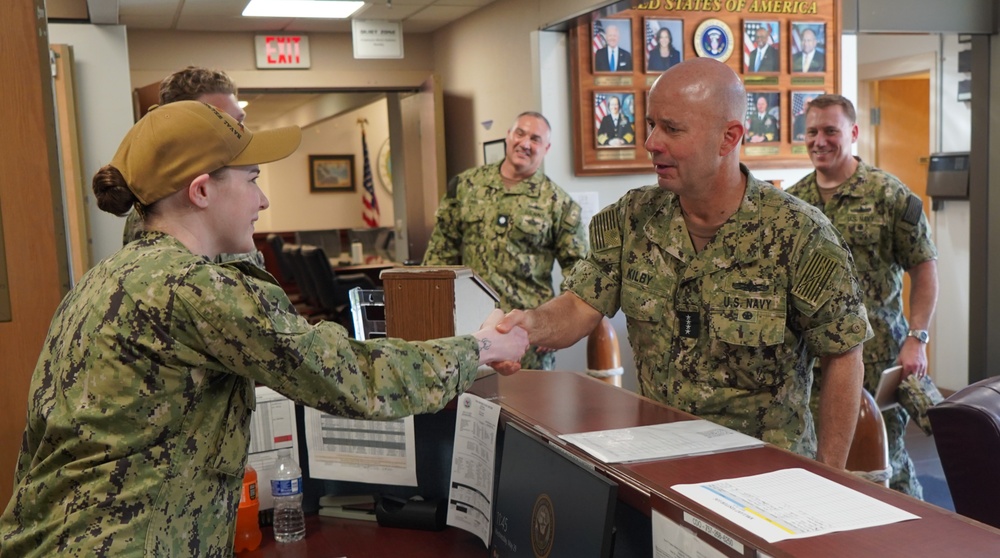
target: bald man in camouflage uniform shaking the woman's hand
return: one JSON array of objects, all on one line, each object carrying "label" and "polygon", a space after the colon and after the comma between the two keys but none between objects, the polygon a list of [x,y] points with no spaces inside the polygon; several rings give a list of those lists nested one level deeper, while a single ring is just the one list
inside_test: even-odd
[{"label": "bald man in camouflage uniform shaking the woman's hand", "polygon": [[[740,165],[745,112],[725,64],[696,58],[661,75],[646,115],[658,184],[594,216],[569,292],[498,327],[564,347],[620,308],[643,395],[843,468],[871,336],[853,263],[820,211]],[[813,354],[836,394],[818,440]]]}]

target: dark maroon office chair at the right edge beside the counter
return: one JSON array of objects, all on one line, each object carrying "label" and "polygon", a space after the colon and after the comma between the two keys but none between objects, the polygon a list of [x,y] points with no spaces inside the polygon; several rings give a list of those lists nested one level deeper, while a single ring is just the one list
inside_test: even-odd
[{"label": "dark maroon office chair at the right edge beside the counter", "polygon": [[955,511],[1000,527],[1000,377],[927,410]]}]

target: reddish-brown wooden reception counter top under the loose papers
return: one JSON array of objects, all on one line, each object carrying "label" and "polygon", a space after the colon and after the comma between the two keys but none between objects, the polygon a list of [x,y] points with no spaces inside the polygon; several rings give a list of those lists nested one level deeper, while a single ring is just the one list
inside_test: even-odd
[{"label": "reddish-brown wooden reception counter top under the loose papers", "polygon": [[[471,391],[499,403],[503,407],[502,421],[513,421],[550,441],[561,434],[694,418],[574,372],[524,370],[513,376],[493,375],[477,382]],[[634,464],[603,464],[575,447],[563,447],[618,482],[620,502],[646,515],[655,508],[677,522],[682,521],[684,512],[695,515],[743,543],[747,557],[756,556],[754,549],[772,557],[996,556],[1000,548],[1000,530],[774,446]],[[835,480],[921,519],[768,543],[670,489],[674,484],[791,467]],[[728,550],[721,545],[717,548]]]}]

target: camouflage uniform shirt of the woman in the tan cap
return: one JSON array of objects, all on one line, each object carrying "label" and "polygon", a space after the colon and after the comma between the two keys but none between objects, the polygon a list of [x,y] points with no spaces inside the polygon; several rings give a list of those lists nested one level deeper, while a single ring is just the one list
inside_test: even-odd
[{"label": "camouflage uniform shirt of the woman in the tan cap", "polygon": [[347,417],[440,409],[475,338],[350,339],[245,261],[144,233],[63,300],[31,383],[4,556],[231,556],[254,382]]}]

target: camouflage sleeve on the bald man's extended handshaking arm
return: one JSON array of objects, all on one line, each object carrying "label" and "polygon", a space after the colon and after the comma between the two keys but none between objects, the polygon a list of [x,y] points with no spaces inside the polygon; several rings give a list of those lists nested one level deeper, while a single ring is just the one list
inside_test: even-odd
[{"label": "camouflage sleeve on the bald man's extended handshaking arm", "polygon": [[624,229],[624,201],[602,209],[590,221],[590,254],[580,260],[563,280],[570,291],[611,317],[621,305],[621,257]]}]

